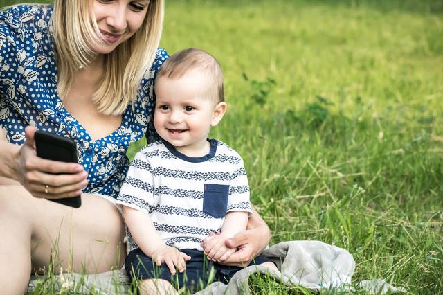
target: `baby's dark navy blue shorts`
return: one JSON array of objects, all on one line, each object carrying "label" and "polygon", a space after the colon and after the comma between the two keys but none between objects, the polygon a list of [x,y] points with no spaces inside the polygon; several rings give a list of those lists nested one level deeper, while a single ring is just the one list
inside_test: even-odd
[{"label": "baby's dark navy blue shorts", "polygon": [[[227,284],[237,271],[243,269],[243,267],[230,267],[208,260],[203,251],[195,249],[181,249],[180,251],[191,256],[191,260],[186,262],[186,270],[183,273],[177,271],[174,276],[171,276],[165,263],[159,267],[141,249],[134,249],[129,252],[125,260],[127,275],[131,280],[161,278],[170,281],[177,289],[183,286],[189,289],[202,289],[212,281]],[[249,265],[261,265],[269,261],[271,260],[264,256],[257,256]],[[213,274],[211,274],[211,269],[214,269]],[[211,282],[208,281],[210,277],[213,277]]]}]

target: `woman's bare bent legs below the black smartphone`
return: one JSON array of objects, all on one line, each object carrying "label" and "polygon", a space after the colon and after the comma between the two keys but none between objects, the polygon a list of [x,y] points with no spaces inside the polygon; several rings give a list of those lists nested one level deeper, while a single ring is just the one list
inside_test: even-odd
[{"label": "woman's bare bent legs below the black smartphone", "polygon": [[47,271],[50,261],[56,272],[120,268],[123,229],[120,212],[102,197],[83,194],[74,209],[32,197],[22,186],[0,186],[1,293],[23,294],[31,272]]}]

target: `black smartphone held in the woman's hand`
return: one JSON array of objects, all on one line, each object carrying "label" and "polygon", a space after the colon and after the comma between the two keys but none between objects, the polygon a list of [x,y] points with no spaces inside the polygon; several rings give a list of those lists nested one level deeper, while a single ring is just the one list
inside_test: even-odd
[{"label": "black smartphone held in the woman's hand", "polygon": [[[40,158],[78,163],[77,145],[71,138],[37,130],[35,132],[35,150],[37,151],[37,157]],[[82,198],[80,195],[63,199],[48,200],[73,208],[79,208],[82,206]]]}]

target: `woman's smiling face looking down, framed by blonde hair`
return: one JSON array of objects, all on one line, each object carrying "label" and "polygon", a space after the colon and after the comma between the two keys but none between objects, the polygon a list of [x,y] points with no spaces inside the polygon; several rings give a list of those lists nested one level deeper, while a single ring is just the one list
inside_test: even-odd
[{"label": "woman's smiling face looking down, framed by blonde hair", "polygon": [[100,39],[93,51],[107,54],[129,39],[143,24],[149,0],[93,0]]}]

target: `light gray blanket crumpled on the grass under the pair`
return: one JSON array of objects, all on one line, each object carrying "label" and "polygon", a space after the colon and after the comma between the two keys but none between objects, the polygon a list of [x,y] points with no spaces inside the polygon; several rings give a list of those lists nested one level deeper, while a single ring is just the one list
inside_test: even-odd
[{"label": "light gray blanket crumpled on the grass under the pair", "polygon": [[[257,272],[267,274],[284,285],[300,286],[314,292],[322,288],[343,291],[354,289],[350,283],[355,262],[352,255],[345,249],[319,241],[291,241],[275,244],[264,250],[262,254],[275,262],[280,271],[273,271],[262,265],[246,267],[238,271],[228,285],[215,282],[196,294],[250,294],[248,278]],[[32,276],[28,291],[32,292],[44,278],[44,276]],[[54,279],[60,282],[56,284],[57,287],[66,291],[73,288],[76,283],[82,282],[81,289],[76,290],[82,294],[90,294],[98,290],[101,294],[127,294],[128,292],[124,270],[89,275],[60,274]],[[384,280],[365,280],[358,286],[366,289],[370,294],[404,292],[403,288],[393,287]]]}]

